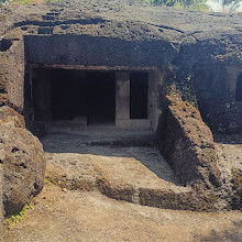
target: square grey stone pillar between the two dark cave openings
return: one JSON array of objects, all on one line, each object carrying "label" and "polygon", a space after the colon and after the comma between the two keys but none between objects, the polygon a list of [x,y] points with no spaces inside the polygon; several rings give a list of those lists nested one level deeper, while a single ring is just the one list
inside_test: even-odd
[{"label": "square grey stone pillar between the two dark cave openings", "polygon": [[116,73],[116,123],[130,119],[130,73]]}]

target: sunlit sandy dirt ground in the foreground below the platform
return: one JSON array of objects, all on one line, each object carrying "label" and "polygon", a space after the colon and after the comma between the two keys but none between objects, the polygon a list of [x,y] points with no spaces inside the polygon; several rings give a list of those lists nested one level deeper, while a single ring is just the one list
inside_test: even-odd
[{"label": "sunlit sandy dirt ground in the foreground below the platform", "polygon": [[33,210],[6,242],[242,241],[241,212],[198,213],[117,201],[97,191],[63,191],[46,184]]}]

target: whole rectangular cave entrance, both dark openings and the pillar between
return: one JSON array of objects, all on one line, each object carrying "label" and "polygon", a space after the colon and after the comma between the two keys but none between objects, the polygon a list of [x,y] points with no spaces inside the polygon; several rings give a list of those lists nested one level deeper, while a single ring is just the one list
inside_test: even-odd
[{"label": "whole rectangular cave entrance, both dark openings and the pillar between", "polygon": [[151,128],[154,94],[146,70],[34,67],[31,80],[36,123]]}]

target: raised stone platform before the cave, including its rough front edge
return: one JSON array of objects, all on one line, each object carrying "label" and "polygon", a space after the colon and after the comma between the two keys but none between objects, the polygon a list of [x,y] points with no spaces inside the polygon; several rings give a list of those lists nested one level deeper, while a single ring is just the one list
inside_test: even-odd
[{"label": "raised stone platform before the cave, including its rough front edge", "polygon": [[148,130],[92,128],[54,132],[42,143],[47,158],[46,177],[63,188],[98,188],[111,198],[134,204],[154,204],[156,197],[151,193],[165,201],[163,196],[170,199],[169,195],[190,191],[179,186],[158,152],[155,134]]}]

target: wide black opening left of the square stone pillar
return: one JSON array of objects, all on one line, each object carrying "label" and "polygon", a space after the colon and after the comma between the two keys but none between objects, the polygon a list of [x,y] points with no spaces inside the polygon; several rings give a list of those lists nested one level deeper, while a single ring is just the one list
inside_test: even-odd
[{"label": "wide black opening left of the square stone pillar", "polygon": [[[114,123],[116,75],[113,72],[52,68],[37,69],[34,77],[35,118],[40,117],[40,107],[45,107],[45,113],[51,113],[48,120],[64,121],[85,117],[88,124]],[[45,98],[40,98],[46,92],[48,95],[45,95]],[[40,103],[40,100],[45,105]],[[43,119],[43,116],[41,117]]]}]

